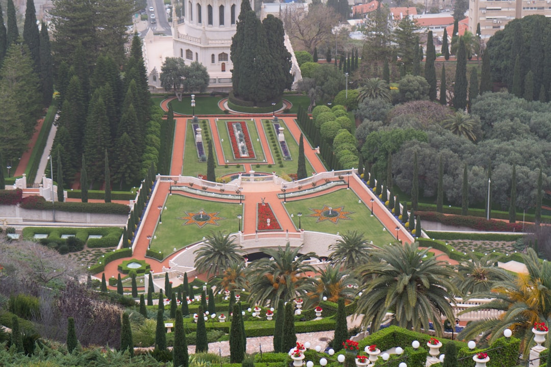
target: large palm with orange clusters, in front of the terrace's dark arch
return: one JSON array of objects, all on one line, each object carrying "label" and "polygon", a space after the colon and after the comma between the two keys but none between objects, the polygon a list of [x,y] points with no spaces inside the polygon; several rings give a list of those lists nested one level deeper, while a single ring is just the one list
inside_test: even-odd
[{"label": "large palm with orange clusters, in front of the terrace's dark arch", "polygon": [[271,258],[252,261],[249,265],[251,297],[255,303],[277,305],[279,299],[290,301],[300,297],[301,292],[313,278],[306,276],[307,271],[314,271],[310,265],[302,264],[314,253],[300,254],[302,245],[291,248],[289,242],[284,248],[262,249]]}]

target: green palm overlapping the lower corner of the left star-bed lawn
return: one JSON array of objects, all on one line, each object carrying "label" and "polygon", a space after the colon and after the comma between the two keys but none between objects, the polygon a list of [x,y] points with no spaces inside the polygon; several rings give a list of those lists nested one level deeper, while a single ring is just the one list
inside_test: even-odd
[{"label": "green palm overlapping the lower corner of the left star-bed lawn", "polygon": [[218,275],[230,264],[243,261],[242,248],[229,234],[213,232],[203,246],[193,251],[196,254],[195,267],[200,273],[207,272],[207,276]]}]

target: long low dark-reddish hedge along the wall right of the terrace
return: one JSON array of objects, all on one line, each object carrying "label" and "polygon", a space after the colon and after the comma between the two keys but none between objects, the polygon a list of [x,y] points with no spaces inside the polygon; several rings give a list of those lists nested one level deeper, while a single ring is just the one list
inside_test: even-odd
[{"label": "long low dark-reddish hedge along the wall right of the terrace", "polygon": [[480,217],[444,215],[443,213],[434,211],[415,211],[415,215],[420,216],[422,221],[439,222],[447,226],[469,227],[478,229],[479,231],[522,232],[522,223],[487,221],[485,218]]}]

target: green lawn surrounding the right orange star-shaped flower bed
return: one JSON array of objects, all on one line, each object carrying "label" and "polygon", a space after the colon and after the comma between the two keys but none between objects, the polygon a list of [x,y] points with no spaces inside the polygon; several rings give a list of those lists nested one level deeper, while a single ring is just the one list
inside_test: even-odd
[{"label": "green lawn surrounding the right orange star-shaped flower bed", "polygon": [[[317,196],[316,198],[288,201],[285,204],[287,211],[293,213],[292,220],[295,227],[299,228],[299,217],[296,213],[301,212],[301,226],[306,231],[325,232],[325,233],[345,233],[347,231],[363,232],[365,238],[372,240],[374,245],[380,246],[395,239],[387,231],[383,231],[383,226],[377,217],[370,216],[370,210],[363,203],[358,203],[358,196],[352,190],[342,189],[334,193]],[[343,207],[343,211],[352,212],[347,216],[352,220],[339,219],[337,224],[325,220],[317,222],[317,217],[310,215],[315,214],[311,209],[322,209],[323,206],[332,208]]]}]

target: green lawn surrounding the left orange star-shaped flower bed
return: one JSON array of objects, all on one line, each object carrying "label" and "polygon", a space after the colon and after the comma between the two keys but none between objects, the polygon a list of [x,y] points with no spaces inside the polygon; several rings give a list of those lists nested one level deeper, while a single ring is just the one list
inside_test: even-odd
[{"label": "green lawn surrounding the left orange star-shaped flower bed", "polygon": [[[163,251],[165,257],[177,250],[198,242],[203,237],[210,235],[213,231],[225,233],[237,232],[239,223],[237,214],[243,215],[243,206],[218,201],[207,201],[187,198],[181,195],[168,196],[166,209],[163,210],[163,224],[159,224],[154,233],[156,238],[152,240],[153,251]],[[219,224],[205,224],[199,228],[197,224],[186,224],[186,220],[180,219],[186,216],[186,212],[219,212],[218,217],[224,219],[217,221]],[[242,223],[241,223],[242,224]]]}]

